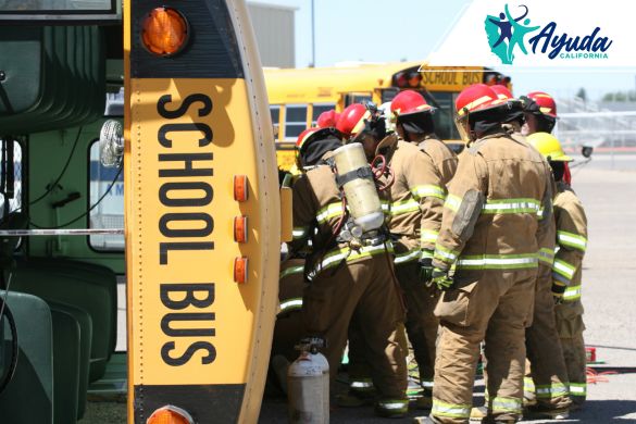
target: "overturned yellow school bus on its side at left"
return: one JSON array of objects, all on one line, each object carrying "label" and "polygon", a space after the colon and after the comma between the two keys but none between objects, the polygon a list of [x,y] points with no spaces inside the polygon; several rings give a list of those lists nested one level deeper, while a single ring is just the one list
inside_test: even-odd
[{"label": "overturned yellow school bus on its side at left", "polygon": [[0,4],[0,422],[255,422],[291,228],[244,1]]}]

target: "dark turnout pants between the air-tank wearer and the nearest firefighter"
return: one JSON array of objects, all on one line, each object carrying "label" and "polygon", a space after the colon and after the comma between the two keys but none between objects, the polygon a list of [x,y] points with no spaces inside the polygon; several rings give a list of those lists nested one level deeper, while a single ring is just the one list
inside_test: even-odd
[{"label": "dark turnout pants between the air-tank wearer and the nearest firefighter", "polygon": [[420,280],[420,265],[409,262],[397,265],[396,273],[407,302],[407,335],[413,346],[422,387],[431,396],[435,373],[435,349],[439,320],[433,311],[439,300],[439,290],[426,287]]}]

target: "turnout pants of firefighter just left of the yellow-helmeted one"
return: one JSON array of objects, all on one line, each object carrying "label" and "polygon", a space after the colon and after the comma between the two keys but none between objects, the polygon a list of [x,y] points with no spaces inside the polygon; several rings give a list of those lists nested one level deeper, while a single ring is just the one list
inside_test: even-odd
[{"label": "turnout pants of firefighter just left of the yellow-helmeted one", "polygon": [[551,285],[551,267],[539,263],[533,322],[525,332],[525,346],[537,403],[546,409],[563,409],[570,406],[571,400],[568,396],[568,370],[557,332]]}]

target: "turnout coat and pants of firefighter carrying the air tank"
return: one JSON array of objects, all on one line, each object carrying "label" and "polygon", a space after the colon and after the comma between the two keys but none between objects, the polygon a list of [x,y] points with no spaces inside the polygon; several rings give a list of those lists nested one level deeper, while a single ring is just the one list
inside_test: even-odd
[{"label": "turnout coat and pants of firefighter carrying the air tank", "polygon": [[[376,137],[384,136],[382,125],[367,130]],[[320,159],[294,185],[294,226],[299,238],[295,238],[291,250],[302,248],[309,237],[312,244],[312,254],[305,264],[310,284],[303,292],[303,323],[309,335],[323,337],[327,342],[324,353],[333,384],[349,323],[356,315],[364,334],[373,383],[379,392],[376,412],[401,416],[408,411],[407,367],[396,334],[403,311],[391,279],[390,240],[375,233],[373,237],[365,234],[353,237],[352,228],[345,230],[350,228],[350,212],[345,208],[347,198],[332,169],[335,153],[322,142],[311,141],[310,138],[307,154]]]}]

